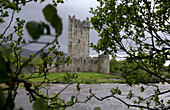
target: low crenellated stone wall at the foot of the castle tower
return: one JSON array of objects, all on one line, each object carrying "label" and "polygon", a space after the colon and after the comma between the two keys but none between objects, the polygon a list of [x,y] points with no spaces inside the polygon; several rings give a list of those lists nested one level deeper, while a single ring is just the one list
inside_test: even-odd
[{"label": "low crenellated stone wall at the foot of the castle tower", "polygon": [[[57,62],[63,62],[67,57],[57,58]],[[69,65],[60,63],[56,70],[50,72],[98,72],[109,74],[109,55],[101,55],[99,57],[71,57],[72,61]]]}]

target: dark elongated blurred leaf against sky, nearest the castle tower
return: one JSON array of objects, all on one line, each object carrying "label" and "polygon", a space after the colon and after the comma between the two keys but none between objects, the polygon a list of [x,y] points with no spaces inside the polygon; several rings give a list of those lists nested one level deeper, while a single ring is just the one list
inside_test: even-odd
[{"label": "dark elongated blurred leaf against sky, nearest the castle tower", "polygon": [[53,5],[47,5],[43,9],[43,14],[45,19],[55,28],[56,37],[62,33],[62,21],[61,18],[57,15],[57,10]]}]

